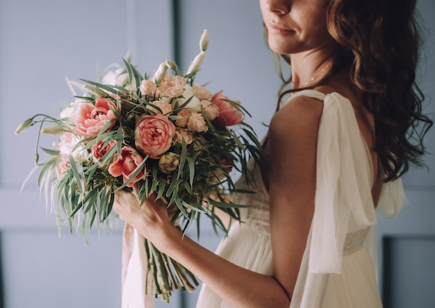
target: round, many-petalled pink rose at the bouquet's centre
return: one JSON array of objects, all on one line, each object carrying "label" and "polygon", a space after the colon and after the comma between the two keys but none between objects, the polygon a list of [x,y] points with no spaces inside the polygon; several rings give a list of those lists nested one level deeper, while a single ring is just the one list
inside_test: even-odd
[{"label": "round, many-petalled pink rose at the bouquet's centre", "polygon": [[154,159],[171,147],[174,136],[174,124],[161,113],[142,116],[134,132],[136,147]]}]

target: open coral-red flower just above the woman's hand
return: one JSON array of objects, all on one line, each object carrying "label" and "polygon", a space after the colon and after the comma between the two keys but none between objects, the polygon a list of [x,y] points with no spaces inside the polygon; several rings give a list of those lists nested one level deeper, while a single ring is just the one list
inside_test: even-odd
[{"label": "open coral-red flower just above the woman's hand", "polygon": [[[122,176],[124,182],[129,180],[131,173],[140,165],[143,161],[143,157],[131,146],[123,146],[121,148],[120,155],[113,155],[113,162],[108,168],[108,172],[117,178]],[[146,169],[144,168],[138,173],[138,175],[127,184],[127,187],[133,187],[136,182],[142,180],[146,176]]]}]

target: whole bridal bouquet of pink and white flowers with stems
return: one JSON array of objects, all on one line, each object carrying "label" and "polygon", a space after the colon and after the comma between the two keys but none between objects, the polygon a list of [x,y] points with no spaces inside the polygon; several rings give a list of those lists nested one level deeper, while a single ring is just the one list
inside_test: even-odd
[{"label": "whole bridal bouquet of pink and white flowers with stems", "polygon": [[[107,222],[114,192],[135,185],[140,200],[151,194],[165,200],[183,232],[199,223],[201,214],[227,232],[216,208],[240,220],[243,205],[228,198],[237,191],[230,171],[249,178],[247,160],[258,160],[261,146],[238,101],[194,83],[207,45],[204,31],[200,52],[184,75],[165,61],[151,77],[141,76],[124,58],[124,67],[109,71],[101,82],[82,80],[85,94],[64,102],[59,117],[37,114],[17,128],[19,133],[39,126],[38,185],[51,201],[59,230],[65,221],[70,230],[77,223],[85,233]],[[54,148],[41,147],[47,162],[40,162],[38,153],[42,133],[60,135]],[[156,296],[169,301],[174,289],[195,289],[186,268],[144,244]]]}]

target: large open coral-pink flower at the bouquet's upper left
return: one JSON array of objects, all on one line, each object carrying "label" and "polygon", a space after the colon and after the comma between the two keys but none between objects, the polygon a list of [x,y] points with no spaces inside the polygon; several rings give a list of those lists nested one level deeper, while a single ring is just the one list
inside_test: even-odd
[{"label": "large open coral-pink flower at the bouquet's upper left", "polygon": [[95,105],[82,103],[74,131],[83,137],[95,137],[109,121],[112,121],[107,128],[107,130],[110,130],[115,125],[116,119],[115,114],[110,110],[110,106],[116,109],[113,101],[102,97],[95,100]]}]

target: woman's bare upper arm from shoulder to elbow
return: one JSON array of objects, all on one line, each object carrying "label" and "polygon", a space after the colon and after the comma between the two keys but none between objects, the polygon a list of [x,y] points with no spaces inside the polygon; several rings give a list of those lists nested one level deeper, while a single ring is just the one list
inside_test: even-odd
[{"label": "woman's bare upper arm from shoulder to elbow", "polygon": [[299,96],[270,124],[273,275],[291,298],[314,214],[317,137],[323,103]]}]

